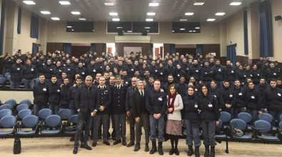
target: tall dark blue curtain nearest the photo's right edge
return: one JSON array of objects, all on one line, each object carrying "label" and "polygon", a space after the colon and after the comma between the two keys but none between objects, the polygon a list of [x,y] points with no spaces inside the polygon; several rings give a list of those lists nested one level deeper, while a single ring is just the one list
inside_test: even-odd
[{"label": "tall dark blue curtain nearest the photo's right edge", "polygon": [[273,31],[271,2],[261,1],[259,4],[259,33],[260,33],[260,56],[273,56]]}]

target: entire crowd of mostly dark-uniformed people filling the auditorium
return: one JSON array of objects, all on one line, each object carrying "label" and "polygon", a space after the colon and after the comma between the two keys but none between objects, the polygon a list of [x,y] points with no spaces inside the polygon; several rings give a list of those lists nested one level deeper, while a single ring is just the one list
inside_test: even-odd
[{"label": "entire crowd of mostly dark-uniformed people filling the auditorium", "polygon": [[[268,112],[276,125],[282,113],[281,72],[280,66],[268,59],[261,58],[253,66],[232,65],[231,61],[223,66],[209,54],[203,58],[201,54],[176,53],[153,59],[139,53],[121,57],[89,52],[78,59],[64,53],[23,56],[18,52],[15,56],[6,54],[4,61],[4,75],[11,76],[11,88],[17,88],[21,81],[29,81],[25,86],[33,88],[34,114],[41,108],[54,113],[59,108],[70,108],[79,114],[75,154],[83,128],[82,148],[92,149],[87,144],[89,136],[95,147],[103,135],[107,146],[112,136],[114,145],[134,146],[134,151],[139,151],[143,126],[145,151],[149,151],[151,140],[149,153],[158,151],[163,155],[166,135],[171,141],[169,154],[179,155],[178,138],[184,125],[188,156],[200,156],[200,128],[204,156],[215,156],[215,131],[221,111],[231,113],[232,118],[240,112],[251,113],[253,122],[258,114]],[[126,118],[130,124],[128,144]]]}]

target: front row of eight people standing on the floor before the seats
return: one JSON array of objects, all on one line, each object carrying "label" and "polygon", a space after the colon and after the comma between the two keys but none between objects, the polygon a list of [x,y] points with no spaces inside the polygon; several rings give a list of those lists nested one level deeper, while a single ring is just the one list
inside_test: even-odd
[{"label": "front row of eight people standing on the floor before the seats", "polygon": [[[117,77],[119,78],[119,77]],[[98,129],[102,121],[103,124],[103,140],[104,144],[110,145],[107,138],[108,123],[109,123],[109,101],[112,102],[114,111],[114,122],[116,128],[115,144],[122,143],[126,145],[126,113],[124,108],[126,98],[121,98],[126,94],[126,86],[123,86],[119,80],[116,84],[106,86],[103,84],[104,77],[99,80],[98,88],[92,83],[91,76],[86,76],[85,83],[78,87],[75,96],[75,105],[79,114],[79,122],[76,126],[76,134],[74,138],[74,151],[76,154],[79,147],[79,139],[81,130],[84,127],[85,136],[82,148],[91,150],[92,148],[87,144],[90,134],[91,120],[94,120],[94,141],[92,146],[96,146],[98,141]],[[147,90],[144,88],[143,81],[136,83],[137,88],[132,94],[132,108],[131,116],[135,118],[135,134],[136,144],[134,151],[139,151],[141,142],[141,127],[143,126],[145,132],[145,151],[148,152],[149,138],[152,143],[150,154],[158,151],[159,155],[163,155],[163,142],[165,141],[165,131],[171,141],[171,150],[169,154],[175,153],[179,155],[178,138],[182,135],[182,119],[183,113],[184,122],[186,125],[186,144],[188,145],[188,156],[193,154],[193,143],[195,146],[195,156],[200,156],[199,146],[201,140],[199,138],[200,122],[203,128],[203,144],[206,151],[205,156],[215,156],[215,131],[216,126],[219,125],[219,108],[217,100],[212,96],[208,87],[203,85],[201,87],[201,95],[195,94],[193,86],[188,87],[187,96],[181,98],[178,94],[176,85],[168,86],[168,94],[166,95],[161,90],[161,82],[156,80],[153,83],[153,88]],[[112,100],[111,100],[112,94]],[[121,108],[120,108],[121,107]],[[92,118],[91,118],[92,117]],[[166,118],[167,117],[167,118]],[[106,119],[108,121],[106,121]],[[167,121],[166,121],[167,119]],[[156,138],[158,138],[158,146],[156,146]],[[210,150],[211,147],[211,150]]]}]

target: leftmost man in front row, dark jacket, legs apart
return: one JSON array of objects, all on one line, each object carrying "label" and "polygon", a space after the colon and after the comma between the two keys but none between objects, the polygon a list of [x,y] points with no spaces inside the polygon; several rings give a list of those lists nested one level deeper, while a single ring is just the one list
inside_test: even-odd
[{"label": "leftmost man in front row, dark jacket, legs apart", "polygon": [[79,86],[77,89],[74,102],[79,113],[79,121],[76,126],[76,135],[74,137],[73,153],[76,154],[79,148],[79,139],[84,123],[85,135],[82,148],[86,148],[87,150],[92,149],[90,146],[88,146],[87,141],[90,133],[91,116],[95,116],[97,112],[94,110],[95,105],[99,104],[99,94],[97,93],[97,88],[92,84],[91,76],[86,76],[85,84]]}]

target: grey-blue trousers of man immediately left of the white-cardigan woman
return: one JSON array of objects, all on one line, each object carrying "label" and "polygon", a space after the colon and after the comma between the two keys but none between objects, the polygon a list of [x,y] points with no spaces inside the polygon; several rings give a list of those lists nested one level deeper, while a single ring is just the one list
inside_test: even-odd
[{"label": "grey-blue trousers of man immediately left of the white-cardigan woman", "polygon": [[150,121],[150,140],[156,141],[156,131],[158,131],[158,142],[164,141],[164,116],[161,115],[160,118],[156,119],[153,115],[149,116]]}]

